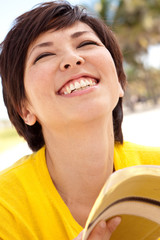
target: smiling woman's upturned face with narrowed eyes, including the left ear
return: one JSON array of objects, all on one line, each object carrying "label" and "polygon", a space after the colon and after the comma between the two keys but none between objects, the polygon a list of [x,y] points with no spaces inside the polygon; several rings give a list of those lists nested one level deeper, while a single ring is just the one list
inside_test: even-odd
[{"label": "smiling woman's upturned face with narrowed eyes, including the left ear", "polygon": [[123,90],[113,59],[94,31],[77,22],[42,33],[29,47],[22,117],[62,129],[112,114]]}]

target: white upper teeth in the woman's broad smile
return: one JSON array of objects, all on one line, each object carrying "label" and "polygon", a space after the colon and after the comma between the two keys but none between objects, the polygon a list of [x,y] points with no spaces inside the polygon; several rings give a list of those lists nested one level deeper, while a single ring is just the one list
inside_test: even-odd
[{"label": "white upper teeth in the woman's broad smile", "polygon": [[64,91],[64,94],[69,94],[74,90],[80,89],[80,88],[84,88],[86,86],[94,86],[96,85],[96,83],[94,81],[92,81],[91,79],[84,79],[81,81],[76,81],[74,83],[70,83]]}]

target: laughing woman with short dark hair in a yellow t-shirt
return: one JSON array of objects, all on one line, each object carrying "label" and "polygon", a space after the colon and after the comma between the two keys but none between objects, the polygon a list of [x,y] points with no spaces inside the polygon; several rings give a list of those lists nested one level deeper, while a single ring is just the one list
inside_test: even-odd
[{"label": "laughing woman with short dark hair in a yellow t-shirt", "polygon": [[[123,144],[122,55],[84,10],[49,2],[18,17],[0,71],[10,120],[35,151],[1,173],[1,239],[73,239],[113,165],[158,164],[159,150]],[[119,222],[89,239],[109,239]]]}]

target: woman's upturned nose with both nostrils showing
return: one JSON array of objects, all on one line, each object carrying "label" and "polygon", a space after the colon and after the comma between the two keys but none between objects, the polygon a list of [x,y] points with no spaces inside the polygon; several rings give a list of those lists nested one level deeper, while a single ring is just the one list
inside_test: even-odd
[{"label": "woman's upturned nose with both nostrils showing", "polygon": [[76,54],[68,54],[63,58],[62,62],[60,63],[61,71],[65,71],[69,68],[74,68],[79,65],[83,65],[85,62],[84,58],[76,55]]}]

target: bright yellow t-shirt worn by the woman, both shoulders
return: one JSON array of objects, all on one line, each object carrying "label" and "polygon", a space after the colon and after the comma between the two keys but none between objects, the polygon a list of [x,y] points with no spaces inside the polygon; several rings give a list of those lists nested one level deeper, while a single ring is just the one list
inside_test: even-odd
[{"label": "bright yellow t-shirt worn by the woman, both shoulders", "polygon": [[[159,162],[160,148],[115,146],[116,169]],[[50,178],[44,147],[0,173],[0,239],[72,240],[81,231]]]}]

